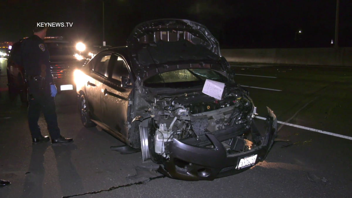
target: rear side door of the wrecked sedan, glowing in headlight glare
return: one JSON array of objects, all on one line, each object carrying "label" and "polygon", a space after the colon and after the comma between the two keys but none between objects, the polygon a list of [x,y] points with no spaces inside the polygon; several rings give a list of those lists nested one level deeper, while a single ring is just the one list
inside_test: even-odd
[{"label": "rear side door of the wrecked sedan, glowing in headlight glare", "polygon": [[89,111],[94,120],[102,121],[101,96],[103,82],[108,77],[108,65],[110,63],[111,53],[103,53],[95,57],[92,68],[86,83],[86,97],[89,104]]}]

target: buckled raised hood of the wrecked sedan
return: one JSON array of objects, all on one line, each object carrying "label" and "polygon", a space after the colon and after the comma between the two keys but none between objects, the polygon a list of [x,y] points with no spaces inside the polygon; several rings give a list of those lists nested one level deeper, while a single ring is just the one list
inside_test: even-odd
[{"label": "buckled raised hood of the wrecked sedan", "polygon": [[[141,79],[158,72],[212,67],[220,61],[219,42],[202,24],[159,19],[137,25],[127,40],[134,73]],[[216,66],[218,69],[219,64]]]}]

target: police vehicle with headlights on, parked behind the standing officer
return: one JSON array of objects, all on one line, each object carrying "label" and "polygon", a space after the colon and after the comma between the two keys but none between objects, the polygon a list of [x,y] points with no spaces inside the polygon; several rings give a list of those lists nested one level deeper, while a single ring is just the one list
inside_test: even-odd
[{"label": "police vehicle with headlights on, parked behind the standing officer", "polygon": [[[27,87],[25,83],[24,68],[13,60],[14,54],[20,50],[23,41],[14,43],[7,60],[8,91],[19,93],[22,102],[27,102]],[[50,53],[50,67],[57,91],[76,90],[73,72],[82,67],[86,58],[81,55],[85,51],[83,43],[66,41],[63,37],[45,37],[44,42]]]}]

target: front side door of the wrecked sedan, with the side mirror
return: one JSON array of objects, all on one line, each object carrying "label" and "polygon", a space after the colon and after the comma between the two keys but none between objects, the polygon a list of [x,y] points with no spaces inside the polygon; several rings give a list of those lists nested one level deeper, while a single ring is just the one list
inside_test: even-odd
[{"label": "front side door of the wrecked sedan, with the side mirror", "polygon": [[121,86],[121,76],[129,78],[130,68],[126,59],[121,55],[114,55],[111,64],[111,75],[103,84],[102,111],[104,114],[103,123],[117,132],[118,136],[127,137],[127,108],[128,97],[132,88]]}]

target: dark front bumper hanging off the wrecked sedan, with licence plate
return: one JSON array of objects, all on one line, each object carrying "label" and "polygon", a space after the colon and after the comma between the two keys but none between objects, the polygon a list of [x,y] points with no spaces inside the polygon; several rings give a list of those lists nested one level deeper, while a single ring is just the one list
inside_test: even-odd
[{"label": "dark front bumper hanging off the wrecked sedan, with licence plate", "polygon": [[[164,166],[160,166],[158,171],[170,178],[198,181],[214,180],[251,168],[265,159],[274,143],[277,118],[269,108],[268,112],[266,133],[260,146],[246,152],[230,155],[226,153],[225,147],[213,134],[207,133],[206,135],[214,144],[214,148],[191,146],[173,139],[169,144],[170,159],[165,161]],[[241,159],[255,155],[257,157],[253,164],[237,168]],[[177,166],[180,161],[187,162],[187,165]]]}]

